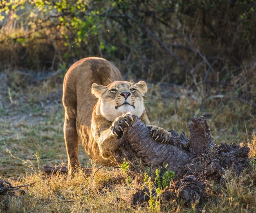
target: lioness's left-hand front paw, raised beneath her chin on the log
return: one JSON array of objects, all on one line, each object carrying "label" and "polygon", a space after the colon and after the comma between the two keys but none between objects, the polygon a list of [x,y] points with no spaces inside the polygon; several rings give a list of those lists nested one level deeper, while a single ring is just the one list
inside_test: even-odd
[{"label": "lioness's left-hand front paw, raised beneath her chin on the log", "polygon": [[130,126],[132,121],[133,118],[131,113],[126,113],[117,117],[110,127],[112,135],[116,135],[117,138],[121,138],[124,133],[124,129]]}]

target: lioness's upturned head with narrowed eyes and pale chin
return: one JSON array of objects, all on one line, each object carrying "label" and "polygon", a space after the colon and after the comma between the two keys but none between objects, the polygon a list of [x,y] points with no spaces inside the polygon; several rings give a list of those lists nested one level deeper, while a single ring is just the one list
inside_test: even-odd
[{"label": "lioness's upturned head with narrowed eyes and pale chin", "polygon": [[147,92],[144,81],[137,84],[127,81],[115,81],[108,86],[92,84],[92,94],[99,99],[101,115],[109,121],[124,113],[141,116],[144,111],[143,95]]}]

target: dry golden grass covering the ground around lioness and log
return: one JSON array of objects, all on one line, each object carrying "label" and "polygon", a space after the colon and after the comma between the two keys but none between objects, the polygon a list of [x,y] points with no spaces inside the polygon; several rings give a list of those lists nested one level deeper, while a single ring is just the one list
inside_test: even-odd
[{"label": "dry golden grass covering the ground around lioness and log", "polygon": [[[148,212],[148,205],[131,206],[131,196],[143,182],[144,171],[129,173],[121,169],[102,168],[92,178],[82,172],[75,177],[45,177],[44,164],[54,166],[67,162],[63,140],[62,85],[52,78],[37,85],[20,85],[18,79],[7,84],[0,76],[0,177],[13,185],[29,181],[35,184],[22,197],[0,195],[0,211],[6,212]],[[239,100],[212,99],[200,111],[201,94],[182,87],[150,85],[145,97],[146,109],[153,124],[166,129],[185,131],[190,117],[205,115],[215,142],[243,142],[256,157],[254,109]],[[246,129],[245,129],[246,126]],[[8,149],[10,152],[6,152]],[[38,153],[38,154],[37,154]],[[13,156],[12,156],[13,155]],[[15,157],[15,158],[13,158]],[[19,159],[18,159],[19,158]],[[80,147],[83,166],[92,163]],[[39,159],[39,162],[37,161]],[[145,168],[147,170],[147,168]],[[121,179],[117,180],[117,178]],[[154,177],[152,177],[154,178]],[[114,181],[116,180],[116,181]],[[256,168],[241,176],[223,175],[222,182],[209,182],[207,198],[198,206],[185,206],[176,200],[160,204],[161,212],[255,212]],[[112,184],[106,184],[114,181]]]}]

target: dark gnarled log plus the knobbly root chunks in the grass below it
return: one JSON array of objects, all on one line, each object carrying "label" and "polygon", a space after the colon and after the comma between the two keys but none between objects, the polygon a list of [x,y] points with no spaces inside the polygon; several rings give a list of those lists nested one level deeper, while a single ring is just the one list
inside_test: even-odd
[{"label": "dark gnarled log plus the knobbly root chunks in the grass below it", "polygon": [[[175,172],[176,183],[173,189],[162,191],[163,200],[178,199],[192,204],[202,200],[205,196],[204,184],[200,180],[211,178],[218,180],[225,169],[231,169],[240,174],[249,166],[249,148],[238,144],[213,143],[210,129],[204,117],[192,118],[188,124],[190,138],[182,132],[175,131],[168,144],[161,144],[151,138],[150,130],[136,116],[133,122],[124,130],[120,140],[118,159],[141,158],[151,169],[158,169],[163,165],[168,171]],[[135,161],[133,161],[135,162]],[[152,192],[155,195],[155,191]],[[133,204],[148,201],[148,189],[138,189],[133,195]]]}]

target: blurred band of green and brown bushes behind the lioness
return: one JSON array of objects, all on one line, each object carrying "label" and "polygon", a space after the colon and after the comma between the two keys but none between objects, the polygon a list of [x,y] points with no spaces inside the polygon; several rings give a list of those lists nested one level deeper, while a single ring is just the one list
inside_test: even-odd
[{"label": "blurred band of green and brown bushes behind the lioness", "polygon": [[0,67],[43,72],[100,56],[129,78],[234,84],[255,61],[255,7],[254,0],[3,0]]}]

